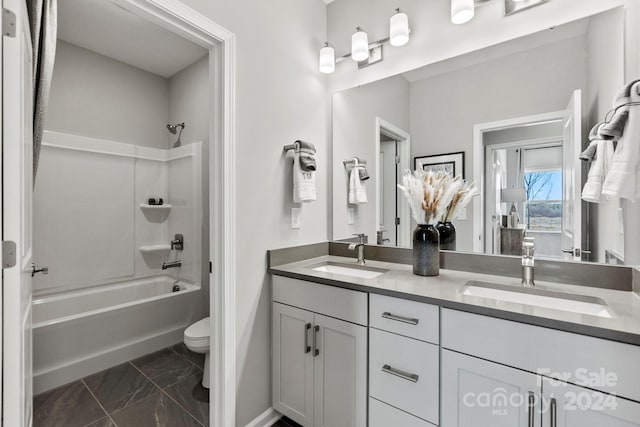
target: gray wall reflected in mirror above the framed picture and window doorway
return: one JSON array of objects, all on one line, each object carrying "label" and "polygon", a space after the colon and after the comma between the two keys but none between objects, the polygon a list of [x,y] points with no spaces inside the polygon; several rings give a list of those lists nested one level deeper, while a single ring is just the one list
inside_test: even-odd
[{"label": "gray wall reflected in mirror above the framed picture and window doorway", "polygon": [[[465,152],[473,179],[473,126],[564,110],[586,89],[584,37],[512,54],[411,84],[411,156]],[[456,221],[457,249],[473,249],[473,212]]]}]

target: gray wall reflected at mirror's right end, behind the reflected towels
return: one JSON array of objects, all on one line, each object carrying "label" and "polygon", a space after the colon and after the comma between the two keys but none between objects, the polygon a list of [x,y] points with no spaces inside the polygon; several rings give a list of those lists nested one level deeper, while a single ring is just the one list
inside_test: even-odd
[{"label": "gray wall reflected at mirror's right end, behind the reflected towels", "polygon": [[[587,132],[604,120],[613,98],[624,84],[624,33],[617,25],[624,10],[618,8],[591,20],[587,31]],[[592,259],[604,262],[606,249],[624,254],[624,237],[620,234],[620,202],[588,203]]]}]

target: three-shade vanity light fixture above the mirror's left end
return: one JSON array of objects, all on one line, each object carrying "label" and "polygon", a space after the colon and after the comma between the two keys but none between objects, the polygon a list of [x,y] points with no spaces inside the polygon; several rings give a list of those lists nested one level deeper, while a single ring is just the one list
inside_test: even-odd
[{"label": "three-shade vanity light fixture above the mirror's left end", "polygon": [[369,43],[369,37],[362,28],[357,27],[351,35],[351,52],[338,58],[335,49],[329,42],[320,48],[318,68],[321,73],[333,73],[336,64],[351,58],[358,63],[358,68],[382,61],[382,45],[389,42],[391,46],[404,46],[409,42],[409,17],[406,13],[396,9],[396,13],[389,19],[389,37]]}]

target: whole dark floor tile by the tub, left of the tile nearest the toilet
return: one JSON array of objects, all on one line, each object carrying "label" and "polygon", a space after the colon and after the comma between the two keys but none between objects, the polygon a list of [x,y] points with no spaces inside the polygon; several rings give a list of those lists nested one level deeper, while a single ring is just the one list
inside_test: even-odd
[{"label": "whole dark floor tile by the tub, left of the tile nearest the toilet", "polygon": [[128,362],[88,376],[84,383],[108,413],[158,391],[158,387]]}]

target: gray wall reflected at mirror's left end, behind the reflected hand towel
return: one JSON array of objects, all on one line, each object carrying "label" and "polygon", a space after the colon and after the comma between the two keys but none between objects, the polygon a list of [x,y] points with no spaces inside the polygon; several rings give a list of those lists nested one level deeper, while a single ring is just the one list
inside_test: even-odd
[{"label": "gray wall reflected at mirror's left end, behind the reflected hand towel", "polygon": [[[375,243],[376,231],[376,118],[409,131],[409,82],[402,76],[339,92],[333,96],[333,238],[366,233]],[[347,203],[349,174],[342,163],[353,157],[367,161],[371,177],[366,181],[368,203]],[[355,222],[347,223],[347,209],[354,208]]]}]

